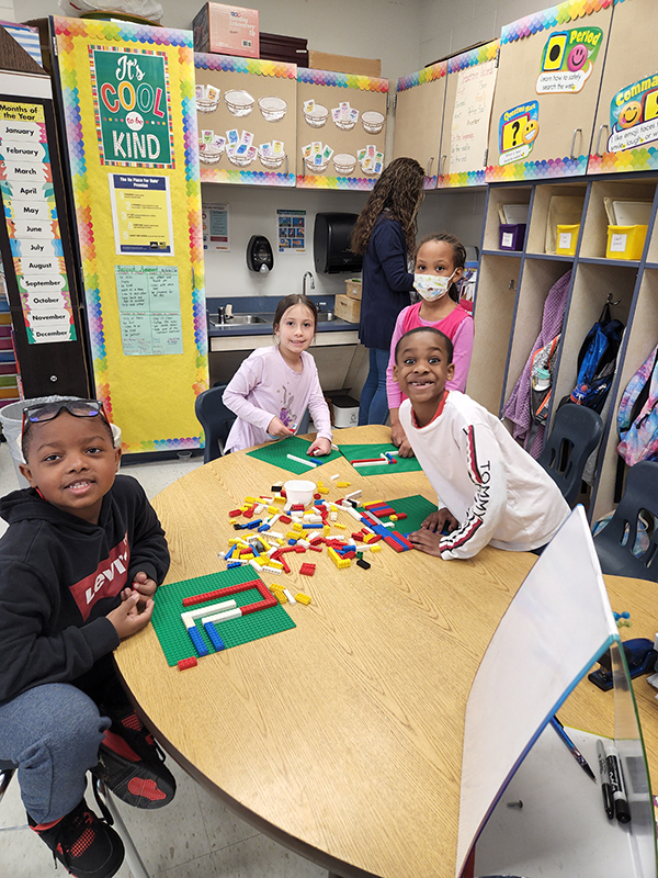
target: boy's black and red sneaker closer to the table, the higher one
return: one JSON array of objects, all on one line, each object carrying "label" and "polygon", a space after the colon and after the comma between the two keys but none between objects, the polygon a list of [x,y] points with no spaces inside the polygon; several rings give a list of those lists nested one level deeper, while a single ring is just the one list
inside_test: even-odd
[{"label": "boy's black and red sneaker closer to the table, the higher one", "polygon": [[175,780],[164,766],[164,757],[152,736],[144,727],[140,730],[120,727],[118,734],[113,731],[115,728],[117,724],[113,722],[112,729],[105,732],[99,764],[92,768],[92,774],[102,778],[122,801],[135,808],[151,810],[169,804],[175,795]]}]

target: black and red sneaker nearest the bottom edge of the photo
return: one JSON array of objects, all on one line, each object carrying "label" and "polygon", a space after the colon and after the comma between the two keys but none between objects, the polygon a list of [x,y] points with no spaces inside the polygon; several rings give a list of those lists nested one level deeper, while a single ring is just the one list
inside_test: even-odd
[{"label": "black and red sneaker nearest the bottom edge of the photo", "polygon": [[123,842],[114,830],[87,807],[84,799],[57,823],[27,822],[76,878],[110,878],[124,859]]}]

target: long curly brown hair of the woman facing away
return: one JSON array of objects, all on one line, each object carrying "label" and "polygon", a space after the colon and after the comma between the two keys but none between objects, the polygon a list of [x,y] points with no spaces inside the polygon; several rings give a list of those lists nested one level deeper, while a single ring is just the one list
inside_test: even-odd
[{"label": "long curly brown hair of the woman facing away", "polygon": [[416,249],[416,213],[423,195],[424,170],[415,158],[396,158],[386,167],[352,229],[352,252],[364,254],[383,211],[402,226],[407,249]]}]

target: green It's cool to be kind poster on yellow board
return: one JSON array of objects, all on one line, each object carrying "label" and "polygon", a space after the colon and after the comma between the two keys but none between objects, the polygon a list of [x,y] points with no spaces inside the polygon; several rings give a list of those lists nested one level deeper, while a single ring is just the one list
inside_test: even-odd
[{"label": "green It's cool to be kind poster on yellow board", "polygon": [[89,46],[101,165],[173,168],[163,53]]}]

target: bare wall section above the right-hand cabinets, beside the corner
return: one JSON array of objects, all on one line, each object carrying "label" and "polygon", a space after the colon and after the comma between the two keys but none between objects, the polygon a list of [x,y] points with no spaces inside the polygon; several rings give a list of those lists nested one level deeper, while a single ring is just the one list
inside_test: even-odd
[{"label": "bare wall section above the right-hand cabinets, beside the corner", "polygon": [[420,67],[475,43],[496,40],[503,24],[551,5],[548,0],[421,0]]}]

